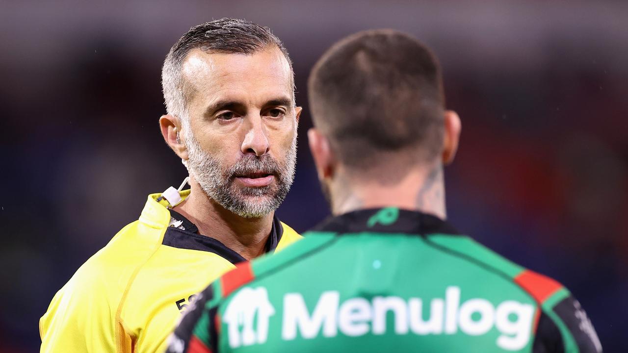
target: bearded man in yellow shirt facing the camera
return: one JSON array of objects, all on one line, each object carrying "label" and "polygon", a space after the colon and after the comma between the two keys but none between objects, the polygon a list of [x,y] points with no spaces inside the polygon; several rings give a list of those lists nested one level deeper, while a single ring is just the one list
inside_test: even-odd
[{"label": "bearded man in yellow shirt facing the camera", "polygon": [[163,351],[195,293],[300,238],[274,217],[301,112],[281,41],[240,19],[200,24],[171,48],[162,79],[161,133],[191,188],[149,195],[58,291],[40,320],[42,352]]}]

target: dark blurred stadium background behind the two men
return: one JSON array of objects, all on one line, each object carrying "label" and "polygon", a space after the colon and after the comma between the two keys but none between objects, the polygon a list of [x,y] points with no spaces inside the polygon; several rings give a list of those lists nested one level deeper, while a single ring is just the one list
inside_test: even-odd
[{"label": "dark blurred stadium background behind the two men", "polygon": [[0,0],[1,352],[38,350],[54,293],[148,193],[183,180],[158,128],[161,63],[224,16],[271,27],[295,62],[305,112],[281,219],[305,231],[328,214],[306,143],[310,67],[349,33],[407,31],[440,57],[463,122],[450,220],[563,282],[605,350],[625,351],[627,2]]}]

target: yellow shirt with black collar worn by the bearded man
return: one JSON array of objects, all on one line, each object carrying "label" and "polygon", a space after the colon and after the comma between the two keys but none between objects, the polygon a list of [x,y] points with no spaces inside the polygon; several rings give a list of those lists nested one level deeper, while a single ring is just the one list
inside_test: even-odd
[{"label": "yellow shirt with black collar worn by the bearded man", "polygon": [[[185,198],[190,190],[181,192]],[[149,195],[139,220],[87,260],[40,319],[41,352],[162,352],[195,293],[244,258]],[[211,234],[208,234],[209,236]],[[275,217],[269,253],[300,239]]]}]

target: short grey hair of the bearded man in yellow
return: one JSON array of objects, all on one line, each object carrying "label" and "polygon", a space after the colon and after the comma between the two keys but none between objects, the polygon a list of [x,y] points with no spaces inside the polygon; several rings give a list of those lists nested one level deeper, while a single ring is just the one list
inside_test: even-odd
[{"label": "short grey hair of the bearded man in yellow", "polygon": [[221,18],[215,21],[198,24],[181,36],[172,46],[161,69],[161,87],[166,104],[166,111],[176,116],[183,124],[187,123],[185,90],[181,67],[188,54],[194,49],[214,53],[252,54],[277,46],[290,65],[290,84],[293,87],[294,70],[288,51],[277,36],[268,27],[236,18]]}]

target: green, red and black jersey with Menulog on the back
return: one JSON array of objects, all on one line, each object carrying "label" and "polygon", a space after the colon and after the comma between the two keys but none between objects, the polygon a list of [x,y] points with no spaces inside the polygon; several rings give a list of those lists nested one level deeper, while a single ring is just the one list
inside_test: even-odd
[{"label": "green, red and black jersey with Menulog on the back", "polygon": [[560,283],[397,208],[332,217],[197,296],[170,353],[602,352]]}]

